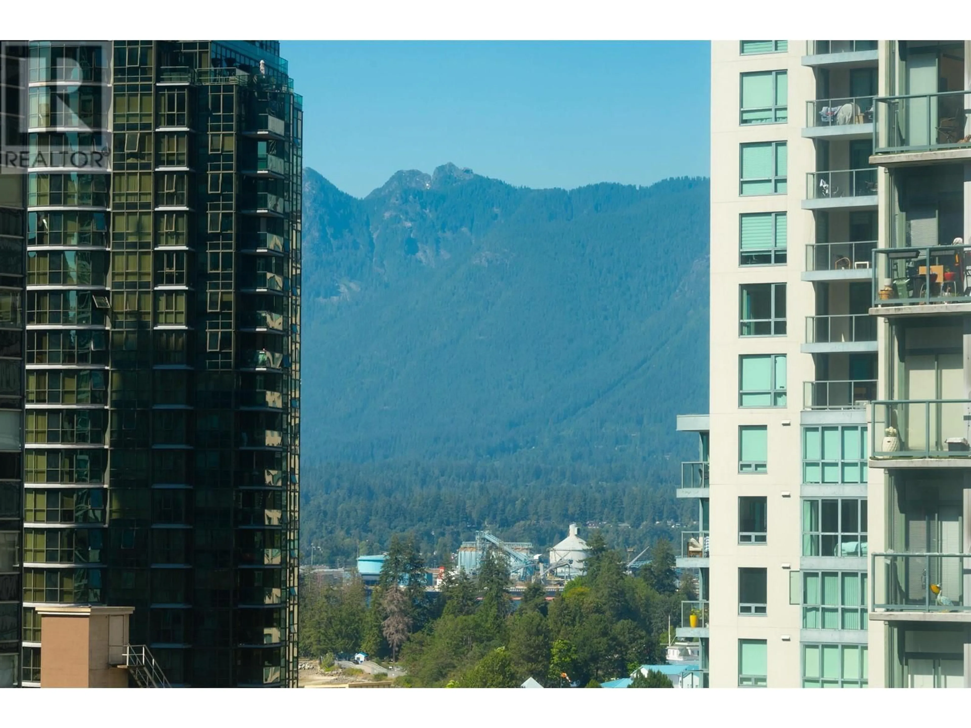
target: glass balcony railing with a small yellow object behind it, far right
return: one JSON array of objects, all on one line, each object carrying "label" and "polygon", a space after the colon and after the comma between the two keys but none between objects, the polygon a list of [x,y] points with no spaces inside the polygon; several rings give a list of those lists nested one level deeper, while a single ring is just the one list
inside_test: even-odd
[{"label": "glass balcony railing with a small yellow object behind it, far right", "polygon": [[971,553],[874,553],[871,604],[887,612],[965,612]]}]

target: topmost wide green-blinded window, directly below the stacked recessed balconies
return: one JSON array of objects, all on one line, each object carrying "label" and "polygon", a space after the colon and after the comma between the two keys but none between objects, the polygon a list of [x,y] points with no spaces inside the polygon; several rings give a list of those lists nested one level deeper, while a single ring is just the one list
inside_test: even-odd
[{"label": "topmost wide green-blinded window, directly below the stacked recessed balconies", "polygon": [[866,425],[802,428],[802,481],[866,482]]}]

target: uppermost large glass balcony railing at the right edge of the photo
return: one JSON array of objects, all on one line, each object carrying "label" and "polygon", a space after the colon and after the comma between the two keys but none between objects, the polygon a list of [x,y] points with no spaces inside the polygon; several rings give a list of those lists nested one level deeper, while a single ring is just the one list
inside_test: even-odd
[{"label": "uppermost large glass balcony railing at the right edge of the photo", "polygon": [[969,91],[876,99],[873,153],[971,147]]}]

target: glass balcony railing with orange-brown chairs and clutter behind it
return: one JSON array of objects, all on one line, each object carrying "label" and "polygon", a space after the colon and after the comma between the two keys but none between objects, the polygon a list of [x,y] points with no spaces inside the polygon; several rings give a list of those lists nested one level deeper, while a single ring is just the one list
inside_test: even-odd
[{"label": "glass balcony railing with orange-brown chairs and clutter behind it", "polygon": [[877,248],[875,306],[971,301],[971,246]]}]

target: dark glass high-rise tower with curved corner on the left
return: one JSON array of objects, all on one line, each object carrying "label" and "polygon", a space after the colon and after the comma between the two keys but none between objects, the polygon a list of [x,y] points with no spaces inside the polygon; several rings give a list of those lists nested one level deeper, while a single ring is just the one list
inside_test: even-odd
[{"label": "dark glass high-rise tower with curved corner on the left", "polygon": [[0,366],[24,364],[22,435],[0,419],[0,489],[23,448],[17,521],[0,490],[19,681],[59,604],[134,607],[174,685],[295,685],[303,118],[279,43],[23,54],[25,265],[0,278]]}]

